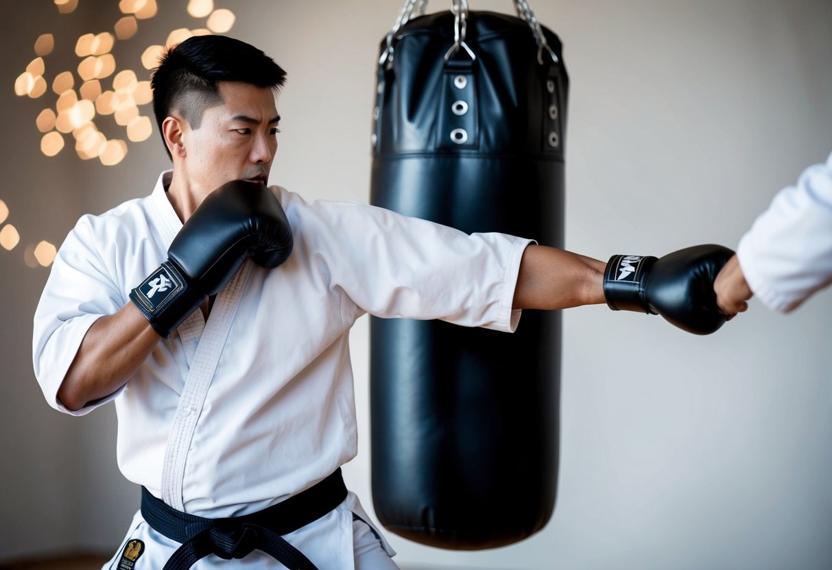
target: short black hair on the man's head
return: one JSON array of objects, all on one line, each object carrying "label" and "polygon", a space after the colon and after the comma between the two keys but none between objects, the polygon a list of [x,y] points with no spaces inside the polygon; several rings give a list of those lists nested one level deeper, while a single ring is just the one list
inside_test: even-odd
[{"label": "short black hair on the man's head", "polygon": [[[264,52],[227,36],[194,36],[162,54],[153,72],[153,113],[162,141],[162,122],[171,112],[181,113],[191,128],[198,129],[202,113],[222,100],[217,81],[243,81],[270,87],[275,95],[286,72]],[[167,149],[167,155],[171,151]]]}]

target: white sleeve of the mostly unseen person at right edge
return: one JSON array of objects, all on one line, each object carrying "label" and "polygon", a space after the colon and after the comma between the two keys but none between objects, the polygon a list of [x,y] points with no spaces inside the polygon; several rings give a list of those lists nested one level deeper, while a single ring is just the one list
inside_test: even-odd
[{"label": "white sleeve of the mostly unseen person at right edge", "polygon": [[751,291],[775,311],[832,283],[832,155],[775,195],[740,239],[737,259]]}]

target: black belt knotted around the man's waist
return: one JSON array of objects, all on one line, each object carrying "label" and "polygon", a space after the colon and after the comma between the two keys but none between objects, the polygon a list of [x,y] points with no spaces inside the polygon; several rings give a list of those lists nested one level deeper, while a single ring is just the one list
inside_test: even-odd
[{"label": "black belt knotted around the man's waist", "polygon": [[292,533],[337,507],[347,496],[339,468],[309,489],[268,509],[241,517],[202,518],[181,513],[141,488],[141,516],[157,533],[182,543],[162,570],[186,570],[210,554],[230,560],[258,549],[286,568],[317,570],[281,534]]}]

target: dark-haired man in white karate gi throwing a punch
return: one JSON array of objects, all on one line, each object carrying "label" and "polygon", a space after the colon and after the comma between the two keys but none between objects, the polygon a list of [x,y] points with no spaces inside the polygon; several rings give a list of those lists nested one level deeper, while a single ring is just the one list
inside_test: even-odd
[{"label": "dark-haired man in white karate gi throwing a punch", "polygon": [[[150,196],[82,217],[44,289],[33,342],[44,395],[73,415],[115,400],[120,469],[145,488],[106,568],[213,568],[221,558],[239,558],[234,568],[396,568],[339,478],[356,454],[348,342],[358,317],[511,332],[522,308],[606,300],[658,312],[662,280],[710,290],[727,258],[705,248],[668,256],[662,271],[656,258],[607,266],[266,189],[284,76],[228,37],[167,52],[152,85],[173,170]],[[648,283],[654,265],[664,277]],[[717,312],[683,297],[666,307],[682,327]]]}]

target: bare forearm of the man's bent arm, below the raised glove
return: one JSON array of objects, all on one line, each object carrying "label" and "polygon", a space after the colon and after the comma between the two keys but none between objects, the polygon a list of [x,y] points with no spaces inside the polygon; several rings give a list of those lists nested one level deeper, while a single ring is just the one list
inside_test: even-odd
[{"label": "bare forearm of the man's bent arm, below the raised glove", "polygon": [[124,386],[160,338],[131,302],[101,317],[78,347],[57,391],[58,400],[77,411],[111,395]]}]

